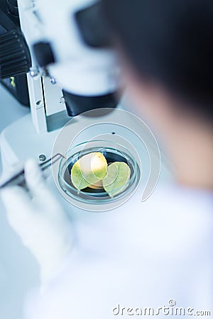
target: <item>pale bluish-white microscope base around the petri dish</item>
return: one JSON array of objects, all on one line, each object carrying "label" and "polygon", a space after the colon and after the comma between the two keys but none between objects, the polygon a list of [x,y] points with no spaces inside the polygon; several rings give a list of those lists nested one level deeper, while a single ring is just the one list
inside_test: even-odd
[{"label": "pale bluish-white microscope base around the petri dish", "polygon": [[[121,112],[124,112],[122,119]],[[158,154],[155,154],[156,150],[148,130],[143,129],[141,133],[138,123],[129,114],[125,111],[115,110],[97,118],[77,116],[72,119],[69,125],[65,125],[65,128],[43,134],[38,134],[35,131],[31,114],[24,116],[1,133],[3,172],[9,172],[16,164],[23,163],[30,157],[39,162],[40,155],[45,155],[47,159],[58,152],[66,155],[70,145],[73,147],[89,140],[110,140],[111,142],[119,142],[121,145],[127,142],[131,154],[141,166],[142,174],[138,191],[142,194],[150,177],[151,153],[153,153],[153,157],[157,157]],[[140,134],[143,141],[141,141]],[[59,142],[62,135],[67,140],[66,143]],[[166,159],[161,154],[160,181],[170,181],[170,172],[165,162]],[[49,174],[53,175],[50,170]],[[56,191],[55,194],[62,199],[63,194],[61,196],[60,191],[55,187],[53,176],[50,184],[50,187]],[[64,197],[66,198],[66,196]],[[76,210],[78,211],[78,208]]]}]

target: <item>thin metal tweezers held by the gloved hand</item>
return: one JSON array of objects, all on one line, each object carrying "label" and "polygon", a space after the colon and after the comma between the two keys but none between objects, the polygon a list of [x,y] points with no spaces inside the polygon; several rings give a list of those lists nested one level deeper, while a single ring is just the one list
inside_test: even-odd
[{"label": "thin metal tweezers held by the gloved hand", "polygon": [[[55,162],[58,162],[58,160],[64,157],[64,155],[61,155],[60,153],[54,155],[50,159],[47,159],[45,162],[40,163],[40,169],[42,171],[45,171],[48,167],[50,167],[52,164],[55,164]],[[0,184],[0,189],[3,189],[6,186],[14,186],[14,185],[25,185],[25,177],[24,177],[24,169],[20,169],[18,172],[11,175],[11,177],[4,181],[2,184]]]}]

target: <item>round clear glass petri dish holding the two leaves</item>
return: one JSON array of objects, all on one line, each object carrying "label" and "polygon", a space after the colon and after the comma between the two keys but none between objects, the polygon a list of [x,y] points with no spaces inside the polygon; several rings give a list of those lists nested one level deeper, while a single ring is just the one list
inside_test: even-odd
[{"label": "round clear glass petri dish holding the two leaves", "polygon": [[[107,159],[108,164],[113,162],[125,162],[130,167],[131,175],[129,181],[126,183],[125,189],[112,198],[106,191],[104,191],[103,188],[92,189],[87,187],[86,189],[79,191],[72,184],[70,177],[72,166],[82,156],[91,152],[101,152]],[[138,186],[141,177],[140,174],[141,172],[136,159],[126,147],[119,143],[107,140],[92,140],[89,142],[82,142],[81,144],[70,148],[67,152],[66,158],[62,158],[60,160],[58,181],[62,191],[71,198],[82,203],[100,204],[118,201],[121,198],[130,196],[130,194],[135,191]],[[120,190],[118,189],[118,191]]]}]

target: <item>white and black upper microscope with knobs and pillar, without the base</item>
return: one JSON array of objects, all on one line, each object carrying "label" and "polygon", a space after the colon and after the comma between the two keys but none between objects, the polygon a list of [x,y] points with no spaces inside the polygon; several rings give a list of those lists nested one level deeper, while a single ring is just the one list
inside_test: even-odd
[{"label": "white and black upper microscope with knobs and pillar, without the base", "polygon": [[0,79],[31,106],[38,133],[55,129],[54,114],[59,127],[67,116],[116,107],[116,67],[99,3],[4,0],[1,7]]}]

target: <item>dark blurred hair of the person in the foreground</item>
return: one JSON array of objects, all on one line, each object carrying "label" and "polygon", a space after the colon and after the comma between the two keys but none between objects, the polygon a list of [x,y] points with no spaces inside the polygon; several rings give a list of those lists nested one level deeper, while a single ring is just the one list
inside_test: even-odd
[{"label": "dark blurred hair of the person in the foreground", "polygon": [[111,30],[141,78],[157,80],[212,118],[213,0],[102,4]]}]

